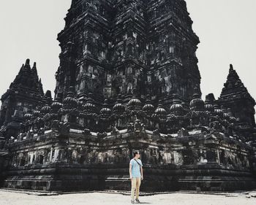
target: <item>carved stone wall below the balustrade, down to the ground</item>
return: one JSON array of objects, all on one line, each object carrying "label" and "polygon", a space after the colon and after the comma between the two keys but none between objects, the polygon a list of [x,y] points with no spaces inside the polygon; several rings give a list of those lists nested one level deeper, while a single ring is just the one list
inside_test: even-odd
[{"label": "carved stone wall below the balustrade, down to the ground", "polygon": [[141,152],[144,191],[246,190],[255,186],[251,173],[255,150],[246,144],[200,132],[178,138],[155,136],[150,131],[122,132],[101,138],[75,130],[67,135],[48,132],[11,142],[10,174],[5,186],[129,190],[127,164],[132,150]]}]

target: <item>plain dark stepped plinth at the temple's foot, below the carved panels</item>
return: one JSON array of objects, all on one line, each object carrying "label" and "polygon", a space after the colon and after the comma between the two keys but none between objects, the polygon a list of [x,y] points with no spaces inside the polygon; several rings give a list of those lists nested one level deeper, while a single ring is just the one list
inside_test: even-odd
[{"label": "plain dark stepped plinth at the temple's foot, below the carved panels", "polygon": [[[256,188],[256,179],[246,171],[228,171],[218,165],[208,169],[152,169],[145,167],[140,190],[143,192],[166,192],[177,190],[234,191]],[[182,168],[182,169],[181,169]],[[185,169],[186,168],[186,169]],[[197,167],[198,168],[198,167]],[[130,190],[128,169],[123,167],[56,166],[45,169],[20,169],[9,171],[4,187],[23,190],[84,191],[84,190]],[[207,173],[206,175],[196,175]],[[227,176],[227,173],[229,176]],[[110,175],[111,174],[111,175]]]}]

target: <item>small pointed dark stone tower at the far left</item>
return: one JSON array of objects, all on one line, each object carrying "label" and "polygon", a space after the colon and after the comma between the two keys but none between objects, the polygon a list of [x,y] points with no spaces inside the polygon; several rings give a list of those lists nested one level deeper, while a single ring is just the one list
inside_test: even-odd
[{"label": "small pointed dark stone tower at the far left", "polygon": [[15,136],[19,122],[29,109],[42,103],[42,82],[37,74],[37,64],[31,68],[29,59],[20,68],[10,88],[1,96],[0,128],[11,131],[7,136]]}]

